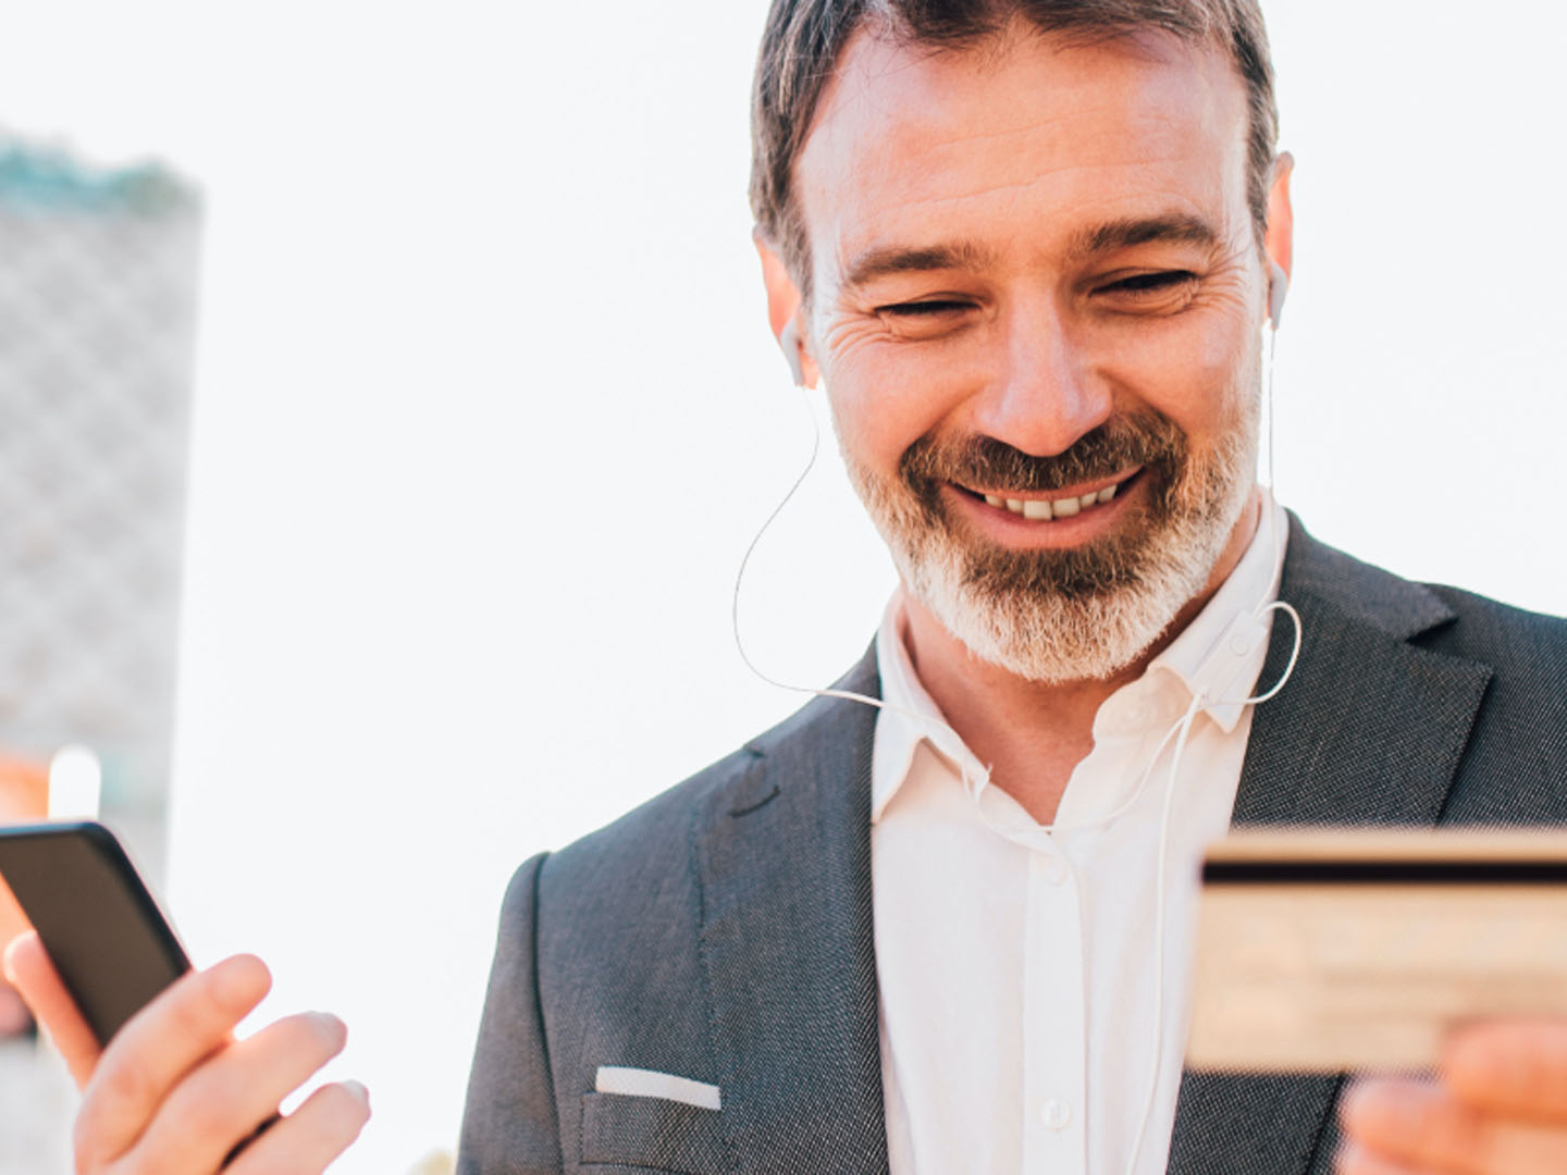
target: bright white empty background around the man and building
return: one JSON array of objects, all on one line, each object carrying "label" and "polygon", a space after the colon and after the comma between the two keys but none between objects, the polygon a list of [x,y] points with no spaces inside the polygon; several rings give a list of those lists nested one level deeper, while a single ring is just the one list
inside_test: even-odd
[{"label": "bright white empty background around the man and building", "polygon": [[[348,1018],[345,1175],[451,1144],[511,870],[796,703],[729,636],[810,445],[744,202],[763,8],[0,6],[0,122],[208,196],[169,904]],[[1567,16],[1268,11],[1282,497],[1561,613]],[[743,597],[812,683],[892,583],[826,448]]]}]

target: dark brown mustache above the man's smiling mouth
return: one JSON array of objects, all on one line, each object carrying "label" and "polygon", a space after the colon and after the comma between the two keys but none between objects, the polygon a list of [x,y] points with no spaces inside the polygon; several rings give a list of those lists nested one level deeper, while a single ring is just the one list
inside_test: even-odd
[{"label": "dark brown mustache above the man's smiling mouth", "polygon": [[931,501],[943,481],[992,492],[1044,494],[1108,478],[1131,465],[1163,473],[1160,481],[1167,486],[1185,464],[1186,450],[1186,434],[1175,421],[1144,412],[1106,420],[1048,457],[987,436],[945,442],[925,436],[904,450],[898,465],[904,484]]}]

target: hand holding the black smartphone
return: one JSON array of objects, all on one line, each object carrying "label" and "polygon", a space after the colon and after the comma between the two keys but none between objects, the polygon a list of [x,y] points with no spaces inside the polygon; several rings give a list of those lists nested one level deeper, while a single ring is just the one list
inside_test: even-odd
[{"label": "hand holding the black smartphone", "polygon": [[266,995],[260,959],[240,954],[191,971],[114,1036],[97,1040],[55,973],[36,934],[5,954],[5,971],[66,1058],[81,1089],[77,1175],[312,1175],[370,1117],[364,1086],[321,1086],[224,1166],[306,1078],[342,1051],[337,1017],[307,1012],[244,1040],[240,1023]]}]

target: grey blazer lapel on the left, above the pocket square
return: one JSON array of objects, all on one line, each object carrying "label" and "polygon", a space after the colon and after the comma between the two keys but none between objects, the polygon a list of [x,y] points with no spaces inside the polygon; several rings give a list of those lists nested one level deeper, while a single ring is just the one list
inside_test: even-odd
[{"label": "grey blazer lapel on the left, above the pocket square", "polygon": [[[874,655],[840,688],[876,696]],[[876,711],[818,699],[747,747],[694,830],[736,1170],[887,1170],[871,934]]]}]

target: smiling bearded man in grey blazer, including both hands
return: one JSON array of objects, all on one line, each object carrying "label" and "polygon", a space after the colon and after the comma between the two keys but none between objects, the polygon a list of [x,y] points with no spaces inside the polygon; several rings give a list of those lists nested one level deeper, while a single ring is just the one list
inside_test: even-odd
[{"label": "smiling bearded man in grey blazer, including both hands", "polygon": [[[522,866],[461,1169],[1324,1172],[1340,1101],[1346,1172],[1567,1169],[1562,1025],[1352,1098],[1180,1073],[1227,822],[1567,815],[1564,627],[1255,487],[1291,268],[1255,8],[779,0],[755,135],[773,329],[904,583],[840,692],[888,708],[816,700]],[[13,968],[91,1073],[83,1170],[212,1170],[340,1040],[224,1047],[240,959],[99,1061]],[[317,1098],[229,1170],[320,1170],[362,1097]]]}]

